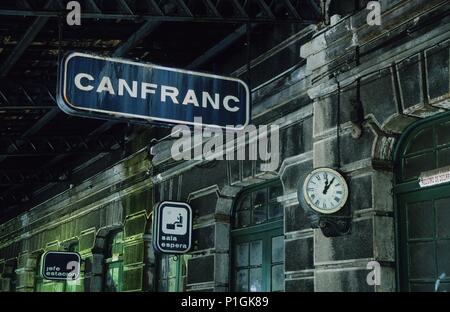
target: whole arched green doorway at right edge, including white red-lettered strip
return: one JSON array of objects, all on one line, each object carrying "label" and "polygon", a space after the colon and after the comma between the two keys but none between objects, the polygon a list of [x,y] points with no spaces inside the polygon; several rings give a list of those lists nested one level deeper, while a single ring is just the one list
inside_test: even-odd
[{"label": "whole arched green doorway at right edge, including white red-lettered strip", "polygon": [[450,291],[450,118],[410,127],[396,150],[399,290]]}]

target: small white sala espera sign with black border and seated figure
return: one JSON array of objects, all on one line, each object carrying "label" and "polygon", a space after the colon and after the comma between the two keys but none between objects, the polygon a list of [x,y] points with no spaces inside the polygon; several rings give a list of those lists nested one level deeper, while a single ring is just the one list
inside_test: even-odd
[{"label": "small white sala espera sign with black border and seated figure", "polygon": [[168,254],[186,253],[192,242],[192,209],[187,203],[164,201],[153,220],[153,247]]}]

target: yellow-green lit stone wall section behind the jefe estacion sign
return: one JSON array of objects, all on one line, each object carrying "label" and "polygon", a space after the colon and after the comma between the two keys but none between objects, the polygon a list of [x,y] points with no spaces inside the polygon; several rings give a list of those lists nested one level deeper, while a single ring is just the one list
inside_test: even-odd
[{"label": "yellow-green lit stone wall section behind the jefe estacion sign", "polygon": [[[2,290],[33,291],[40,256],[79,245],[83,276],[80,289],[101,291],[107,237],[124,230],[124,291],[153,289],[150,248],[153,205],[147,152],[136,153],[83,183],[48,199],[0,227]],[[14,276],[15,275],[15,276]],[[44,291],[63,283],[45,281]]]}]

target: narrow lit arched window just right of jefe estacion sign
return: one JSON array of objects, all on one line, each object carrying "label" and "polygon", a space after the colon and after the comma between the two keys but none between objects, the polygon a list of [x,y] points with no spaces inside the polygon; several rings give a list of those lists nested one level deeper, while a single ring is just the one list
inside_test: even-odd
[{"label": "narrow lit arched window just right of jefe estacion sign", "polygon": [[123,231],[115,232],[108,238],[105,256],[105,291],[119,292],[123,288]]}]

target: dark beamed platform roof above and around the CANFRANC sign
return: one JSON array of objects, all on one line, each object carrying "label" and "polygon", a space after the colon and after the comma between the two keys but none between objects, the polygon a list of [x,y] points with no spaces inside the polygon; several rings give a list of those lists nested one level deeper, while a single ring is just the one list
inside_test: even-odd
[{"label": "dark beamed platform roof above and around the CANFRANC sign", "polygon": [[126,124],[68,116],[56,106],[61,54],[212,70],[245,43],[249,22],[263,33],[321,19],[319,0],[80,0],[81,26],[69,26],[67,2],[0,0],[0,220],[20,213],[40,187],[70,179],[82,156],[126,143]]}]

